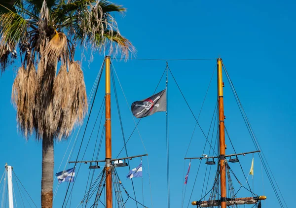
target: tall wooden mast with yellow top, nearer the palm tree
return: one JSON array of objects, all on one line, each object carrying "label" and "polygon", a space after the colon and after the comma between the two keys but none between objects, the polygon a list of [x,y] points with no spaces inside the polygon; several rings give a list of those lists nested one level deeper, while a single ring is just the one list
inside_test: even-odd
[{"label": "tall wooden mast with yellow top, nearer the palm tree", "polygon": [[112,169],[111,169],[111,83],[110,83],[110,56],[106,61],[106,208],[112,208]]}]

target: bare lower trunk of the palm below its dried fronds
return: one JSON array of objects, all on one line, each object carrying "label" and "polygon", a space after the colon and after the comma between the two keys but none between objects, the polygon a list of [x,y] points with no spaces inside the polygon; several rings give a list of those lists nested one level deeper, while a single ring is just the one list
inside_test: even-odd
[{"label": "bare lower trunk of the palm below its dried fronds", "polygon": [[52,208],[53,187],[53,138],[42,138],[41,208]]}]

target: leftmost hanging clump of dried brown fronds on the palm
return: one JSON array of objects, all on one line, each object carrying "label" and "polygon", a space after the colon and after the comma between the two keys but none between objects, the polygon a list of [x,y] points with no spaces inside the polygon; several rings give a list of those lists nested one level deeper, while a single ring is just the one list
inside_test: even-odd
[{"label": "leftmost hanging clump of dried brown fronds on the palm", "polygon": [[26,138],[33,134],[37,74],[34,65],[21,67],[12,85],[11,101],[17,109],[17,123]]}]

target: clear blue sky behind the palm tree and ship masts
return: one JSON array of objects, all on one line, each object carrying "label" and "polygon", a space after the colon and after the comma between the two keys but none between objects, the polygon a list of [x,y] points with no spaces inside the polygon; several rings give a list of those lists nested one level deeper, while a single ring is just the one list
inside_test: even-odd
[{"label": "clear blue sky behind the palm tree and ship masts", "polygon": [[[240,100],[245,108],[253,129],[257,135],[269,166],[277,180],[288,207],[293,207],[296,185],[294,148],[296,145],[296,105],[294,77],[295,68],[295,6],[294,1],[279,2],[275,0],[261,1],[115,1],[128,8],[126,16],[116,16],[120,32],[129,38],[138,51],[138,58],[150,59],[195,59],[218,58],[221,56],[236,87]],[[77,55],[77,54],[76,54]],[[86,54],[89,55],[89,54]],[[89,56],[87,56],[89,57]],[[77,59],[80,56],[77,55]],[[94,55],[94,61],[88,65],[83,62],[84,77],[88,94],[104,57]],[[205,96],[216,61],[168,61],[179,86],[188,103],[197,116]],[[15,110],[10,103],[11,86],[19,62],[5,71],[0,78],[0,165],[8,162],[14,167],[33,200],[40,204],[41,179],[41,143],[34,139],[26,141],[18,132]],[[114,62],[129,104],[150,96],[165,69],[165,61],[128,61]],[[215,73],[216,75],[216,73]],[[225,77],[225,125],[237,152],[255,149],[248,136],[242,117],[235,104],[230,86]],[[95,102],[93,116],[98,113],[104,93],[104,80]],[[165,87],[162,80],[158,90]],[[186,107],[173,79],[169,76],[169,128],[170,128],[170,176],[171,176],[171,208],[181,207],[184,172],[188,161],[184,164],[184,156],[195,125],[194,119]],[[133,120],[125,100],[117,84],[118,99],[121,103],[123,125],[126,138],[134,128]],[[211,116],[216,102],[216,77],[212,81],[200,123],[205,132],[208,131]],[[112,141],[113,156],[117,156],[122,148],[121,130],[115,99],[112,97]],[[90,126],[94,117],[90,120]],[[166,185],[166,147],[165,147],[165,113],[156,113],[143,119],[139,125],[141,136],[149,154],[150,180],[152,187],[153,207],[167,207]],[[88,129],[89,138],[91,129]],[[96,132],[96,131],[95,131]],[[78,143],[81,141],[81,135]],[[84,159],[92,156],[95,137]],[[200,156],[205,139],[200,130],[194,134],[187,156]],[[227,143],[227,140],[226,140]],[[55,146],[55,173],[58,171],[68,146],[62,141]],[[228,141],[227,153],[233,153]],[[104,144],[103,144],[104,146]],[[138,133],[135,133],[128,145],[129,155],[145,154]],[[84,146],[85,148],[85,146]],[[209,151],[209,147],[206,147]],[[76,154],[77,151],[75,150]],[[124,157],[125,153],[120,156]],[[68,155],[66,155],[68,157]],[[79,157],[81,159],[81,157]],[[100,152],[104,159],[104,151]],[[75,158],[72,157],[72,160]],[[244,173],[250,170],[252,156],[241,158]],[[140,163],[139,159],[131,161],[131,168]],[[187,207],[191,189],[199,161],[191,162],[188,186],[185,194]],[[147,169],[147,158],[143,158]],[[62,167],[65,166],[65,162]],[[185,166],[185,168],[184,168]],[[206,165],[202,168],[193,191],[192,200],[199,200]],[[71,167],[67,166],[66,168]],[[241,170],[237,164],[232,169],[238,173],[244,183]],[[60,170],[62,170],[61,168]],[[132,194],[131,184],[125,179],[128,168],[118,170],[126,189]],[[74,186],[73,206],[79,204],[84,195],[88,166],[82,165]],[[212,171],[214,176],[214,172]],[[262,180],[263,175],[263,180]],[[210,177],[210,181],[212,176]],[[237,190],[237,183],[233,182]],[[145,205],[151,208],[148,186],[148,175],[144,173]],[[249,178],[249,182],[252,180]],[[135,178],[137,198],[142,202],[142,182]],[[212,181],[210,182],[212,183]],[[54,188],[57,185],[55,181]],[[54,207],[61,207],[67,184],[62,184]],[[259,157],[255,155],[254,192],[267,196],[263,207],[279,207],[265,173],[261,173]],[[125,197],[125,194],[123,193]],[[249,196],[247,192],[238,197]],[[75,206],[74,206],[75,205]],[[135,207],[134,203],[128,207]],[[191,205],[189,205],[191,207]]]}]

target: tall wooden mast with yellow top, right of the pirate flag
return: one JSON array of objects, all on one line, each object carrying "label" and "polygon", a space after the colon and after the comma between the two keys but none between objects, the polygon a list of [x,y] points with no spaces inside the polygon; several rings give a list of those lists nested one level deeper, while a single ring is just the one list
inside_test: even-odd
[{"label": "tall wooden mast with yellow top, right of the pirate flag", "polygon": [[222,59],[217,59],[218,69],[218,108],[219,108],[219,144],[220,144],[220,186],[221,208],[226,208],[226,169],[225,169],[225,132],[224,132],[224,104],[223,104],[223,81]]}]

